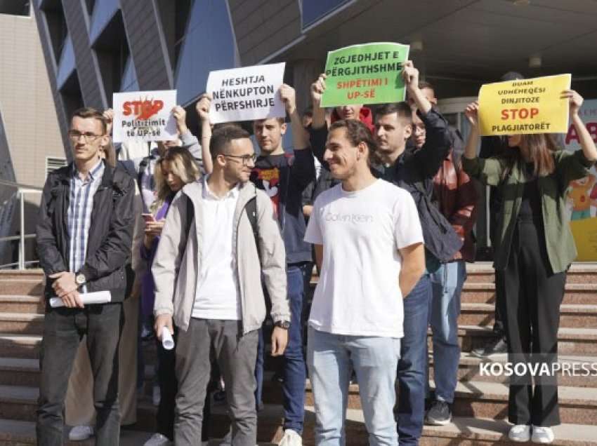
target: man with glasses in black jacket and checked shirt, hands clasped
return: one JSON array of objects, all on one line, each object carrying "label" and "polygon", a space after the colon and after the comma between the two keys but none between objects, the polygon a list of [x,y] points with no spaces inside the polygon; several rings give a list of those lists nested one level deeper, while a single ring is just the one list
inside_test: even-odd
[{"label": "man with glasses in black jacket and checked shirt, hands clasped", "polygon": [[[106,165],[109,141],[95,109],[74,112],[68,132],[73,162],[48,175],[37,222],[37,252],[47,281],[37,410],[37,442],[63,444],[63,409],[79,342],[87,336],[96,407],[96,445],[118,445],[118,344],[125,264],[133,236],[133,179]],[[110,292],[106,304],[84,305],[80,292]],[[64,306],[52,308],[51,297]]]}]

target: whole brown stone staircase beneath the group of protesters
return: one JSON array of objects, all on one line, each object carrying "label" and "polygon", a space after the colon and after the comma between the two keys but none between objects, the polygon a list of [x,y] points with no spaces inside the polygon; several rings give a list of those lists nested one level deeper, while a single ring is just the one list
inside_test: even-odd
[{"label": "whole brown stone staircase beneath the group of protesters", "polygon": [[[494,278],[490,264],[468,265],[468,279],[462,292],[459,339],[462,353],[459,384],[454,400],[452,423],[425,426],[421,445],[510,445],[507,439],[508,388],[505,378],[484,376],[482,360],[471,356],[491,334],[494,314]],[[37,407],[39,364],[37,361],[44,306],[41,303],[41,272],[0,271],[0,445],[35,444],[34,419]],[[315,286],[315,280],[312,283]],[[597,364],[597,265],[575,264],[568,274],[561,307],[560,361]],[[153,358],[151,348],[147,356]],[[506,356],[485,361],[506,361]],[[147,367],[147,395],[150,394],[152,360]],[[596,365],[597,367],[597,365]],[[433,359],[430,356],[430,376]],[[597,374],[597,372],[596,372]],[[271,374],[270,374],[271,375]],[[259,412],[258,439],[277,442],[282,435],[282,393],[280,385],[266,376]],[[597,377],[560,374],[560,416],[563,424],[554,428],[554,445],[597,446]],[[228,431],[223,405],[213,407],[211,435],[221,438]],[[138,423],[122,431],[121,445],[143,445],[154,428],[155,407],[149,399],[140,401]],[[314,445],[315,414],[310,384],[306,388],[306,419],[303,442]],[[358,385],[350,386],[346,421],[347,445],[367,445]],[[72,442],[92,445],[93,442]],[[218,442],[213,442],[217,445]]]}]

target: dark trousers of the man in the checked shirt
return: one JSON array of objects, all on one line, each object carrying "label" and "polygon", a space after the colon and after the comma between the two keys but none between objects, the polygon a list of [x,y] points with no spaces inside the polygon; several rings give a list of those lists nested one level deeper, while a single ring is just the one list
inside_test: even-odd
[{"label": "dark trousers of the man in the checked shirt", "polygon": [[63,444],[64,402],[79,342],[87,335],[96,408],[96,445],[118,445],[118,344],[124,325],[122,303],[47,308],[39,365],[37,444]]}]

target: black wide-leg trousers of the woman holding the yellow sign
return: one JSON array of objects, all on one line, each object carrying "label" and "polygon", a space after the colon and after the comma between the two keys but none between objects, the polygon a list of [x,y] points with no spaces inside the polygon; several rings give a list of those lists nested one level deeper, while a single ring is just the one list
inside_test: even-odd
[{"label": "black wide-leg trousers of the woman holding the yellow sign", "polygon": [[[558,360],[560,304],[566,273],[552,273],[541,222],[516,222],[508,266],[503,272],[504,315],[509,362],[546,363]],[[520,368],[519,370],[524,370]],[[534,385],[533,385],[534,384]],[[509,421],[513,424],[560,424],[555,376],[513,374],[509,392]]]}]

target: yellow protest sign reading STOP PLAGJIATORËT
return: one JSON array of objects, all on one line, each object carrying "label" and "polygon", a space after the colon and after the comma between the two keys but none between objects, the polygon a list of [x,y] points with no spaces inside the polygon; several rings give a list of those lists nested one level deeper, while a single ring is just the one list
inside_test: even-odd
[{"label": "yellow protest sign reading STOP PLAGJIATOR\u00cbT", "polygon": [[486,83],[479,90],[481,135],[568,132],[570,74]]}]

